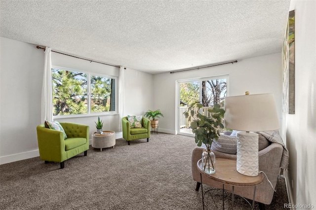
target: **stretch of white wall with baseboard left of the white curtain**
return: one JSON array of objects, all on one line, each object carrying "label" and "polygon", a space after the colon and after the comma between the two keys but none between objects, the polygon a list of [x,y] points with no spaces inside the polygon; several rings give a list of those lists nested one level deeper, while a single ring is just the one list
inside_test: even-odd
[{"label": "stretch of white wall with baseboard left of the white curtain", "polygon": [[0,44],[0,163],[6,163],[39,155],[36,126],[40,124],[44,52],[3,37]]}]

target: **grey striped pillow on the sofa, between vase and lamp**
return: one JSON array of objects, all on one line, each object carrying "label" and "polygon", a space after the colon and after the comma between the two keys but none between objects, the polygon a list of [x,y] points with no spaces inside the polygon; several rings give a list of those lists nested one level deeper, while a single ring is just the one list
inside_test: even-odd
[{"label": "grey striped pillow on the sofa, between vase and lamp", "polygon": [[217,141],[213,140],[211,144],[211,150],[236,155],[237,137],[221,135]]}]

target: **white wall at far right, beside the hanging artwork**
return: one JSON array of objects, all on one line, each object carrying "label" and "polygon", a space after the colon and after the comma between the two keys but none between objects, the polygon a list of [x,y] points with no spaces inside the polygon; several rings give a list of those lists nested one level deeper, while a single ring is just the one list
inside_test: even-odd
[{"label": "white wall at far right, beside the hanging artwork", "polygon": [[295,9],[295,114],[284,114],[292,204],[316,208],[316,1],[292,0]]}]

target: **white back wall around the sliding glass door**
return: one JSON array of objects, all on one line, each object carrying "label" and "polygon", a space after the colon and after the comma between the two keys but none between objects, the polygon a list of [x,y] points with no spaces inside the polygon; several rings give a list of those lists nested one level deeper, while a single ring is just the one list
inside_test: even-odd
[{"label": "white back wall around the sliding glass door", "polygon": [[179,73],[154,75],[154,109],[164,117],[159,119],[159,131],[176,134],[176,81],[181,79],[229,75],[230,96],[274,93],[279,120],[281,120],[282,70],[281,54],[271,54],[240,60],[234,64]]}]

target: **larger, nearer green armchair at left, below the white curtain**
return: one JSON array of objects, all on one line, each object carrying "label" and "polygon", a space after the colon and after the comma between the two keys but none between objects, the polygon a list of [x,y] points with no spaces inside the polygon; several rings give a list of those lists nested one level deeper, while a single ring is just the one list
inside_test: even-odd
[{"label": "larger, nearer green armchair at left, below the white curtain", "polygon": [[48,162],[59,162],[63,169],[65,160],[89,149],[89,126],[76,123],[61,122],[67,139],[61,131],[45,128],[44,124],[37,127],[40,159]]}]

